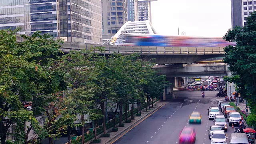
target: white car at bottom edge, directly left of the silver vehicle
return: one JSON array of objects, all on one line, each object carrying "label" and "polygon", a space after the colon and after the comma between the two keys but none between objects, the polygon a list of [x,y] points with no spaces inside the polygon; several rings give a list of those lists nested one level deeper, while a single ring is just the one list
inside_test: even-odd
[{"label": "white car at bottom edge, directly left of the silver vehicle", "polygon": [[224,130],[214,130],[210,136],[211,144],[227,144],[227,138]]}]

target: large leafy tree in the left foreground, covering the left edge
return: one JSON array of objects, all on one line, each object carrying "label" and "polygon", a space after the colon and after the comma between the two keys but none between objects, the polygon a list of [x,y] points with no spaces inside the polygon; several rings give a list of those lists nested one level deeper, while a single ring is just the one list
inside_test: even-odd
[{"label": "large leafy tree in the left foreground, covering the left edge", "polygon": [[[0,31],[0,135],[5,143],[7,130],[16,123],[16,143],[28,143],[27,134],[35,126],[40,127],[34,117],[43,111],[37,100],[44,94],[55,93],[66,88],[62,73],[51,65],[58,60],[61,40],[54,40],[49,34],[24,36],[25,42],[16,42],[19,29]],[[24,102],[32,101],[32,111],[26,110]],[[4,119],[8,120],[4,120]],[[30,126],[25,123],[31,122]],[[36,130],[37,129],[37,130]],[[25,132],[26,131],[26,132]],[[38,133],[43,138],[44,133]]]}]

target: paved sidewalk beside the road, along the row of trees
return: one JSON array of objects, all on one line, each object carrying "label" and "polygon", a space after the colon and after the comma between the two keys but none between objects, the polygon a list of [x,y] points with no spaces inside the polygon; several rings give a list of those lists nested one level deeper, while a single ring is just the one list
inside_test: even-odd
[{"label": "paved sidewalk beside the road, along the row of trees", "polygon": [[[125,132],[136,126],[136,124],[139,124],[142,122],[144,119],[147,118],[147,116],[150,116],[153,112],[158,110],[161,106],[164,104],[167,104],[168,102],[158,102],[156,106],[154,105],[153,108],[150,108],[151,110],[148,110],[146,112],[146,109],[142,110],[141,116],[136,116],[135,120],[131,120],[131,123],[124,123],[124,127],[118,127],[117,132],[109,132],[110,137],[105,138],[105,137],[100,137],[99,139],[101,140],[101,144],[110,144],[111,142],[114,142],[117,138],[122,136]],[[136,114],[135,114],[136,115]]]}]

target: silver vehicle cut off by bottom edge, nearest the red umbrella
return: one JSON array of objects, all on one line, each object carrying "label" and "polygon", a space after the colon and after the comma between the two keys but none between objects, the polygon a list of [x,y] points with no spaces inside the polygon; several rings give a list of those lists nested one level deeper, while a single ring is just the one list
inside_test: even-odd
[{"label": "silver vehicle cut off by bottom edge, nearest the red umbrella", "polygon": [[249,144],[247,135],[245,133],[232,133],[230,144]]}]

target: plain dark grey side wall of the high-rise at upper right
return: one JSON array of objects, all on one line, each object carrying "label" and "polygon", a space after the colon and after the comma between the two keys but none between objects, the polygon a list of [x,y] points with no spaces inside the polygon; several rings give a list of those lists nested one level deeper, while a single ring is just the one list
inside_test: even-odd
[{"label": "plain dark grey side wall of the high-rise at upper right", "polygon": [[232,28],[242,26],[244,23],[242,20],[242,0],[231,0],[231,22]]}]

